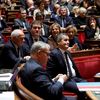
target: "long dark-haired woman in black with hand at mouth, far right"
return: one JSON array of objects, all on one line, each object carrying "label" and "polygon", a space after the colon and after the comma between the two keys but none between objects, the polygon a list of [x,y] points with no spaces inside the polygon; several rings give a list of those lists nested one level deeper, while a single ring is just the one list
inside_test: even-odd
[{"label": "long dark-haired woman in black with hand at mouth, far right", "polygon": [[86,39],[100,39],[100,25],[95,16],[91,16],[87,20],[87,25],[84,30]]}]

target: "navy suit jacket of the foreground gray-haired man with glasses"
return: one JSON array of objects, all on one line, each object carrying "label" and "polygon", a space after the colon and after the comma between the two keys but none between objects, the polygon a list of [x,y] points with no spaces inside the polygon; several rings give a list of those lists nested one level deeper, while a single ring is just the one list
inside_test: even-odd
[{"label": "navy suit jacket of the foreground gray-haired man with glasses", "polygon": [[44,100],[62,100],[62,84],[54,83],[42,67],[32,58],[27,61],[20,73],[22,84]]}]

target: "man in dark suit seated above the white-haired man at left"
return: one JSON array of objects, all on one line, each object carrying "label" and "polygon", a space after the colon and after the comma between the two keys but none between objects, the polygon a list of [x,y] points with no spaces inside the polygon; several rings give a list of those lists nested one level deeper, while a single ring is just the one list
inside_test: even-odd
[{"label": "man in dark suit seated above the white-haired man at left", "polygon": [[28,31],[30,29],[30,24],[26,20],[27,12],[24,9],[20,10],[20,18],[14,20],[14,25],[23,28],[24,30]]}]

